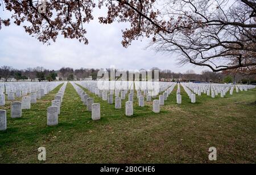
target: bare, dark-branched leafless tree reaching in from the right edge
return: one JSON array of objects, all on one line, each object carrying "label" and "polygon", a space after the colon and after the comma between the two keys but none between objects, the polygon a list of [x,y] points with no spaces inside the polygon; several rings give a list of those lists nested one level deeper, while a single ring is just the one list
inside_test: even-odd
[{"label": "bare, dark-branched leafless tree reaching in from the right edge", "polygon": [[181,63],[207,66],[212,71],[254,70],[255,5],[255,1],[243,0],[168,1],[165,11],[170,24],[152,44],[159,51],[179,53]]}]

